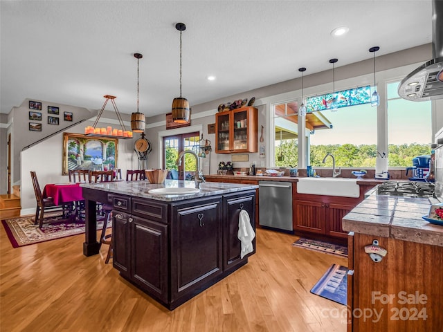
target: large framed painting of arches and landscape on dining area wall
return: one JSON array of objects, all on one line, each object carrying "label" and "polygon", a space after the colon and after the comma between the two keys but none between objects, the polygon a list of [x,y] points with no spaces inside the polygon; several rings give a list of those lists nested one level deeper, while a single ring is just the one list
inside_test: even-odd
[{"label": "large framed painting of arches and landscape on dining area wall", "polygon": [[115,169],[117,164],[118,138],[63,133],[63,175],[69,169]]}]

